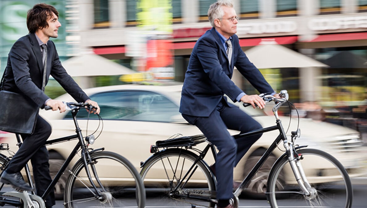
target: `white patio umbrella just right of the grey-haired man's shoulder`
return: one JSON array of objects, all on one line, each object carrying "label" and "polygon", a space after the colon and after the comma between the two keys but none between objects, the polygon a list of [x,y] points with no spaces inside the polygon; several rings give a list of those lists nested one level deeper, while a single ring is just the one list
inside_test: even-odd
[{"label": "white patio umbrella just right of the grey-haired man's shoulder", "polygon": [[259,69],[328,67],[306,55],[288,49],[275,41],[263,41],[245,51],[248,59]]}]

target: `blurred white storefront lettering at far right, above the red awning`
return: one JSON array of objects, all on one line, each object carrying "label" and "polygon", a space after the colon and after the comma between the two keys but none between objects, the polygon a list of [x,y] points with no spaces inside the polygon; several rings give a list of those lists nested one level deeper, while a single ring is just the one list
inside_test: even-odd
[{"label": "blurred white storefront lettering at far right, above the red awning", "polygon": [[315,18],[308,22],[308,27],[313,31],[367,28],[367,16]]}]

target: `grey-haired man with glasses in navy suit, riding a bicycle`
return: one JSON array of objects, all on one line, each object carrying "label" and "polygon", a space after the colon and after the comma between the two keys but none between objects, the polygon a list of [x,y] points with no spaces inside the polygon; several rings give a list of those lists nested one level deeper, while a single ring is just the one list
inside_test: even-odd
[{"label": "grey-haired man with glasses in navy suit, riding a bicycle", "polygon": [[234,102],[250,103],[253,108],[265,107],[261,97],[245,94],[232,82],[233,68],[236,67],[260,93],[274,93],[274,90],[241,49],[235,35],[238,17],[232,2],[219,0],[212,4],[208,18],[212,29],[197,40],[191,53],[180,112],[218,148],[217,161],[211,166],[217,178],[218,208],[231,208],[229,200],[233,187],[239,186],[233,182],[233,168],[261,135],[235,140],[227,128],[245,133],[262,126],[229,104],[224,94]]}]

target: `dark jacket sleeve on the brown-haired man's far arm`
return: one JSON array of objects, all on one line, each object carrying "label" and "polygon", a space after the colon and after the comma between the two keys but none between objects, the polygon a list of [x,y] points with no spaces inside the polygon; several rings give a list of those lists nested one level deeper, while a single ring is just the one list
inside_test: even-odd
[{"label": "dark jacket sleeve on the brown-haired man's far arm", "polygon": [[69,93],[77,102],[83,103],[84,101],[88,100],[89,97],[61,65],[55,44],[53,42],[51,43],[53,49],[55,50],[54,58],[52,60],[51,76],[57,80],[63,89],[65,89],[65,91]]}]

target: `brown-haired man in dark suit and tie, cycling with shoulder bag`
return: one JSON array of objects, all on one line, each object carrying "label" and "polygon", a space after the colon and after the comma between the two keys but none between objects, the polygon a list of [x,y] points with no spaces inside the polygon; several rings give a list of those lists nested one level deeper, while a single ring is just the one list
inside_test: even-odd
[{"label": "brown-haired man in dark suit and tie, cycling with shoulder bag", "polygon": [[[65,112],[66,107],[62,101],[53,100],[44,93],[44,86],[48,82],[48,77],[52,75],[77,102],[87,102],[97,107],[95,113],[98,114],[98,104],[91,101],[66,73],[59,60],[55,44],[50,40],[50,37],[58,37],[58,29],[61,26],[58,14],[53,6],[44,3],[36,4],[28,11],[29,34],[18,39],[10,50],[2,89],[21,94],[41,108],[48,105],[53,111]],[[0,182],[11,184],[18,190],[32,191],[33,189],[25,183],[20,173],[30,160],[36,193],[42,196],[51,182],[49,155],[44,146],[50,135],[50,124],[41,116],[37,116],[33,132],[21,134],[23,144],[3,171]],[[53,191],[46,197],[45,204],[47,208],[55,205]]]}]

